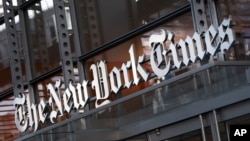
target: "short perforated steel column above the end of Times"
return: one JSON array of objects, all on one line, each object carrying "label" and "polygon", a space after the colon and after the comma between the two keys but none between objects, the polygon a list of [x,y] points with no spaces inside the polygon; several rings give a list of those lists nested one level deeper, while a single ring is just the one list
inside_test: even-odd
[{"label": "short perforated steel column above the end of Times", "polygon": [[195,31],[199,34],[208,29],[204,0],[190,0]]}]

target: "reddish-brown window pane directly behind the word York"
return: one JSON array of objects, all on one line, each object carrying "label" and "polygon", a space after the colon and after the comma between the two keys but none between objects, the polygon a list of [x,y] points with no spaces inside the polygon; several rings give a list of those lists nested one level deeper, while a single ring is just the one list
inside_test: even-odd
[{"label": "reddish-brown window pane directly behind the word York", "polygon": [[[114,72],[114,69],[118,69],[120,71],[123,71],[124,65],[127,63],[127,61],[131,60],[131,56],[133,56],[131,53],[134,51],[135,59],[138,60],[139,56],[145,55],[146,58],[149,57],[150,47],[149,47],[149,36],[152,34],[159,34],[160,29],[165,29],[166,31],[173,32],[175,34],[175,41],[177,42],[179,39],[185,39],[188,35],[193,35],[194,29],[193,29],[193,23],[191,18],[191,12],[183,14],[182,16],[179,16],[178,18],[175,18],[169,22],[166,22],[165,24],[148,31],[142,35],[139,35],[133,39],[130,39],[118,46],[115,46],[112,49],[109,49],[108,51],[104,51],[99,55],[96,55],[88,60],[86,60],[85,66],[86,66],[86,73],[87,74],[87,80],[94,80],[93,76],[93,70],[91,69],[91,66],[98,66],[101,63],[101,60],[105,61],[105,65],[107,67],[107,73],[109,75],[110,72]],[[185,22],[184,22],[185,21]],[[132,46],[134,49],[132,49]],[[137,61],[135,61],[137,63]],[[151,66],[149,62],[143,63],[142,67],[147,70],[149,73],[152,72]],[[121,75],[121,83],[125,84],[125,80],[123,75],[124,73],[119,72]],[[130,77],[130,80],[133,80],[134,83],[136,83],[135,76],[133,76],[133,70],[128,69],[128,76]],[[116,75],[115,75],[116,76]],[[139,76],[139,74],[138,74]],[[109,77],[110,78],[110,77]],[[142,80],[142,79],[141,79]],[[109,83],[109,82],[108,82]],[[129,89],[123,89],[119,91],[119,95],[112,96],[111,99],[116,99],[118,97],[123,97],[128,94],[131,94],[133,92],[136,92],[138,90],[144,89],[146,87],[149,87],[151,85],[154,85],[156,83],[155,79],[151,79],[146,82],[139,83],[138,85],[134,85],[130,87]],[[111,86],[111,83],[108,84],[109,89],[112,91],[114,87]],[[95,96],[96,92],[92,92],[92,96]]]}]

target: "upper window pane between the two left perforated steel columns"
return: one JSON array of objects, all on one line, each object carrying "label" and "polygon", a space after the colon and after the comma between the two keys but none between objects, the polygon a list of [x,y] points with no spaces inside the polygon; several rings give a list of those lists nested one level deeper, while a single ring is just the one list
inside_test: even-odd
[{"label": "upper window pane between the two left perforated steel columns", "polygon": [[60,65],[53,3],[42,0],[29,7],[29,46],[34,76]]}]

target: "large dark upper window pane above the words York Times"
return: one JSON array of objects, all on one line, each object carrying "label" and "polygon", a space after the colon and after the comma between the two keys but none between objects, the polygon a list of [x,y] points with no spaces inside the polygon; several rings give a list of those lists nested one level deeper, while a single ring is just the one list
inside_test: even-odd
[{"label": "large dark upper window pane above the words York Times", "polygon": [[76,0],[82,49],[93,50],[187,3],[187,0]]}]

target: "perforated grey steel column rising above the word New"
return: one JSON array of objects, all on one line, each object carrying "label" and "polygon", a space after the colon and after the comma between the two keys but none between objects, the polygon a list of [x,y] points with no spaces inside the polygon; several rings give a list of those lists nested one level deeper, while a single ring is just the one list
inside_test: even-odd
[{"label": "perforated grey steel column rising above the word New", "polygon": [[59,38],[59,50],[62,61],[63,75],[65,86],[70,81],[74,82],[73,61],[67,29],[67,19],[63,0],[54,0],[54,10],[57,25],[57,34]]}]

